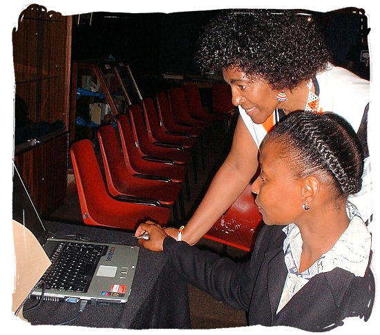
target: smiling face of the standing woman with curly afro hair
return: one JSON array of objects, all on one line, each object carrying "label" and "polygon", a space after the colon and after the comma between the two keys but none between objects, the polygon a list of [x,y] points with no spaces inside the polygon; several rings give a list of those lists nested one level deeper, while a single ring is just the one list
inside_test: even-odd
[{"label": "smiling face of the standing woman with curly afro hair", "polygon": [[263,79],[249,79],[237,67],[223,69],[223,78],[231,86],[232,104],[241,106],[256,124],[262,124],[277,108],[278,90]]}]

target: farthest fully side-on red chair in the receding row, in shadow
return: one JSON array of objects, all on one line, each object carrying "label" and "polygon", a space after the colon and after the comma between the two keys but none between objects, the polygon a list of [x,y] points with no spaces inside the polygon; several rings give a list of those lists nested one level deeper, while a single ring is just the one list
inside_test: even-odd
[{"label": "farthest fully side-on red chair in the receding row, in shadow", "polygon": [[184,96],[186,97],[187,105],[189,106],[189,113],[192,117],[201,119],[211,124],[220,121],[223,117],[220,114],[208,113],[202,105],[202,99],[198,86],[195,84],[187,84],[183,86]]}]

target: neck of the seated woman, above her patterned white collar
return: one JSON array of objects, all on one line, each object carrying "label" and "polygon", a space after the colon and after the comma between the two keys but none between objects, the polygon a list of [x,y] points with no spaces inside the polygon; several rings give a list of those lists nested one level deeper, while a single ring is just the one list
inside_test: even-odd
[{"label": "neck of the seated woman, above her patterned white collar", "polygon": [[319,213],[307,213],[309,219],[305,218],[302,224],[297,224],[303,240],[298,269],[300,274],[334,246],[350,223],[345,206],[337,209],[330,204],[329,207]]}]

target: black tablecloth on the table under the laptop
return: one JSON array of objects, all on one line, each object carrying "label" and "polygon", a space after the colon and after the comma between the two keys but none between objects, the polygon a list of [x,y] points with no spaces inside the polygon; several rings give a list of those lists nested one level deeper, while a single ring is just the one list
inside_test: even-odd
[{"label": "black tablecloth on the table under the laptop", "polygon": [[[61,222],[44,222],[56,238],[83,234],[96,242],[115,242],[137,245],[131,233],[83,227]],[[35,305],[31,298],[24,309]],[[33,325],[55,325],[70,320],[79,311],[79,303],[43,301],[39,307],[23,312]],[[190,328],[187,283],[173,269],[162,253],[140,247],[135,278],[127,303],[92,305],[69,325],[132,329]]]}]

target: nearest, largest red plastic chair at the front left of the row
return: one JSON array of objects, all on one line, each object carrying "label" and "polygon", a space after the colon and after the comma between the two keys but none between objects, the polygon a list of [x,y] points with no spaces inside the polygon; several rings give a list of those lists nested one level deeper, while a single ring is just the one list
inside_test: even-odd
[{"label": "nearest, largest red plastic chair at the front left of the row", "polygon": [[167,224],[169,208],[153,202],[119,201],[108,194],[90,140],[75,142],[70,155],[84,224],[126,230],[134,230],[146,220]]}]

